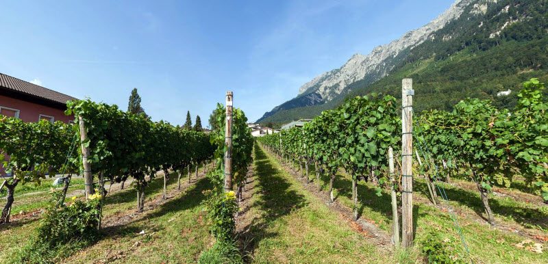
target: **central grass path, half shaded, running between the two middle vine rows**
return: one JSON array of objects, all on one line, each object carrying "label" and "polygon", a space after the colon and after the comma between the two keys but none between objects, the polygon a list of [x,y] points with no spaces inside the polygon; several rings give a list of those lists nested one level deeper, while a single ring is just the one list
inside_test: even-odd
[{"label": "central grass path, half shaded, running between the two middle vine rows", "polygon": [[[306,191],[260,146],[249,208],[238,219],[249,263],[395,263],[390,252],[356,232]],[[410,261],[414,262],[414,261]],[[401,263],[401,261],[400,261]]]}]

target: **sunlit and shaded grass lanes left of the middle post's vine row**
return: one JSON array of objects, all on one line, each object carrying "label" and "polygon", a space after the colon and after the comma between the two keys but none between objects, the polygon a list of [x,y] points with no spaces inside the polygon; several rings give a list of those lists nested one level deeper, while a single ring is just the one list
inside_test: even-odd
[{"label": "sunlit and shaded grass lanes left of the middle post's vine row", "polygon": [[[162,177],[146,189],[145,212],[136,213],[133,187],[113,187],[103,211],[103,236],[97,243],[76,252],[62,263],[195,263],[210,244],[206,216],[201,201],[203,190],[212,184],[199,170],[191,173],[192,183],[184,174],[182,189],[177,189],[175,173],[169,177],[167,200],[162,200]],[[48,196],[48,195],[47,195]],[[47,199],[47,196],[42,199]],[[0,263],[8,263],[20,246],[34,235],[39,217],[0,226]],[[139,233],[145,230],[144,235]]]}]

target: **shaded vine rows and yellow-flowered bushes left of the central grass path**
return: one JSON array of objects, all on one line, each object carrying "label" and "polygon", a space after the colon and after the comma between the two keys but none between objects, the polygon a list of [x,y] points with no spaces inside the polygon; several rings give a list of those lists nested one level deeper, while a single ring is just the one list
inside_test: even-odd
[{"label": "shaded vine rows and yellow-flowered bushes left of the central grass path", "polygon": [[[220,111],[224,111],[221,105],[214,114]],[[213,187],[208,198],[212,233],[219,241],[219,233],[224,233],[227,239],[234,238],[234,217],[229,215],[234,215],[235,211],[232,209],[232,213],[223,214],[222,210],[225,202],[232,202],[237,209],[236,199],[225,197],[222,185],[218,184],[224,179],[221,161],[226,146],[223,140],[217,140],[216,133],[224,133],[224,115],[219,114],[219,127],[210,136],[163,121],[151,122],[145,115],[129,114],[116,105],[90,100],[69,102],[66,114],[76,116],[75,124],[46,120],[26,123],[8,117],[0,120],[3,135],[0,149],[2,157],[9,157],[3,162],[3,167],[13,175],[2,183],[7,190],[7,202],[0,223],[10,223],[18,185],[40,185],[47,176],[55,174],[62,175],[63,185],[59,192],[53,192],[53,198],[36,228],[36,237],[23,246],[12,261],[56,262],[59,256],[70,255],[66,252],[67,245],[88,246],[97,241],[102,230],[105,198],[110,193],[105,183],[110,183],[110,187],[119,183],[123,189],[124,183],[131,179],[136,191],[134,210],[142,213],[149,192],[147,189],[156,183],[158,175],[163,179],[162,200],[166,200],[169,178],[177,177],[177,190],[180,191],[185,170],[190,183],[191,168],[198,177],[199,166],[203,170],[209,169]],[[253,139],[247,131],[247,118],[240,109],[236,109],[234,121],[234,147],[231,147],[236,159],[233,163],[235,180],[241,190],[251,162]],[[66,202],[73,175],[84,176],[85,199],[73,196]],[[216,222],[219,219],[227,223],[219,225]]]}]

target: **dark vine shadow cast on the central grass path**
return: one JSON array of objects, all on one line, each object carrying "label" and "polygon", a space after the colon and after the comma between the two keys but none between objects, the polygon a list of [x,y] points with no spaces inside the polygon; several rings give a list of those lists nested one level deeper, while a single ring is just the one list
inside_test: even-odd
[{"label": "dark vine shadow cast on the central grass path", "polygon": [[[268,230],[271,223],[292,211],[306,207],[308,204],[303,195],[290,189],[291,183],[282,176],[282,172],[273,167],[258,144],[254,146],[254,149],[256,181],[258,181],[255,185],[255,195],[262,194],[262,196],[256,196],[251,207],[262,211],[262,215],[253,218],[251,223],[243,228],[245,231],[240,234],[242,240],[247,243],[244,245],[244,253],[247,256],[253,255],[253,251],[262,239],[277,235],[276,232]],[[250,259],[246,259],[246,262],[250,261]]]}]

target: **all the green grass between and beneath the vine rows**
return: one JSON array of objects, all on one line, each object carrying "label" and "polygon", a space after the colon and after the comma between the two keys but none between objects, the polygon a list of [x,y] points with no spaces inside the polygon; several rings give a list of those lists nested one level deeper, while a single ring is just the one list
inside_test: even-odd
[{"label": "all the green grass between and beneath the vine rows", "polygon": [[[424,261],[422,243],[432,231],[443,239],[453,256],[473,259],[475,263],[545,263],[548,259],[546,252],[536,254],[514,246],[525,238],[490,228],[484,221],[477,220],[481,202],[475,190],[444,185],[451,205],[458,209],[458,222],[469,246],[469,258],[449,214],[427,202],[427,191],[421,180],[415,181],[416,246],[410,250],[382,250],[371,243],[371,239],[353,230],[349,222],[329,209],[323,200],[310,194],[275,157],[266,154],[260,146],[255,146],[253,155],[254,195],[248,201],[249,211],[238,220],[240,229],[246,230],[238,238],[240,246],[245,248],[242,254],[247,263],[420,263]],[[311,178],[314,178],[313,170]],[[194,176],[192,181],[196,181]],[[324,191],[327,181],[327,176],[321,178]],[[145,209],[147,204],[158,202],[162,184],[162,178],[158,177],[147,187]],[[338,174],[334,186],[338,202],[350,207],[349,176]],[[79,186],[72,188],[81,189]],[[203,191],[211,188],[212,183],[201,178],[177,192],[177,177],[172,174],[167,189],[173,197],[142,214],[135,213],[133,187],[114,192],[106,198],[103,219],[121,222],[111,222],[101,230],[99,241],[58,262],[196,263],[200,255],[214,245],[201,204],[205,199]],[[358,185],[358,194],[362,201],[361,217],[390,231],[388,194],[376,196],[373,185],[363,182]],[[40,208],[47,198],[48,192],[16,196],[14,209]],[[527,226],[543,220],[546,215],[545,207],[538,204],[508,197],[493,197],[492,200],[497,221]],[[125,221],[127,217],[132,218]],[[37,225],[38,218],[25,217],[0,226],[0,263],[15,256],[34,235]],[[543,228],[542,222],[537,225]],[[536,228],[538,233],[548,235],[540,228]],[[141,230],[145,230],[145,235],[138,234]]]}]

